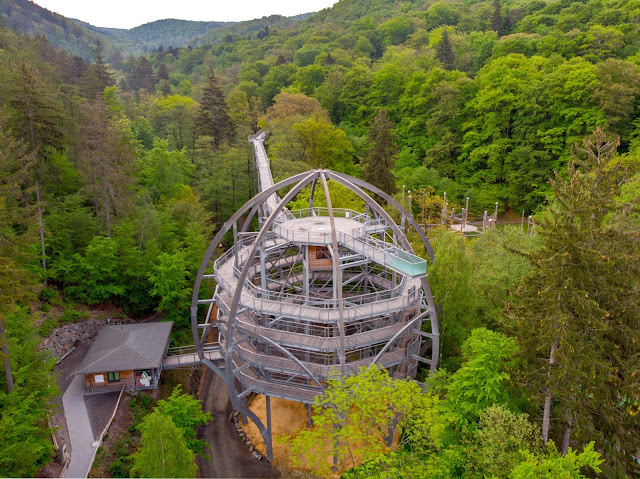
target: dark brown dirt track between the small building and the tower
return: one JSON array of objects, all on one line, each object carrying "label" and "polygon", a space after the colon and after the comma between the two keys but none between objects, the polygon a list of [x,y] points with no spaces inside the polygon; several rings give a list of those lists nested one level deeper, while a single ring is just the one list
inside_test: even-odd
[{"label": "dark brown dirt track between the small building and the tower", "polygon": [[257,461],[240,440],[233,423],[229,421],[231,401],[227,386],[213,371],[205,368],[199,399],[213,421],[198,434],[209,444],[211,460],[197,459],[199,477],[280,477],[277,469],[266,459]]}]

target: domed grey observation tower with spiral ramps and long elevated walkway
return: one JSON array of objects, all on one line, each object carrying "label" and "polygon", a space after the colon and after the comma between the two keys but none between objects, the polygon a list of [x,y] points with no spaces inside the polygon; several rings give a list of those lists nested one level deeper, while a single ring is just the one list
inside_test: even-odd
[{"label": "domed grey observation tower with spiral ramps and long elevated walkway", "polygon": [[[419,362],[436,367],[439,330],[427,262],[414,254],[406,228],[431,258],[433,251],[412,216],[378,188],[329,170],[274,185],[263,140],[264,133],[250,137],[260,193],[209,246],[191,321],[200,360],[224,379],[233,408],[256,423],[272,459],[270,397],[311,404],[328,377],[371,364],[414,378]],[[333,208],[330,181],[360,197],[364,211]],[[287,209],[305,187],[308,204]],[[326,207],[314,206],[318,189]],[[399,224],[372,194],[397,210]],[[214,258],[229,231],[234,246]],[[267,398],[266,426],[246,406],[251,392]]]}]

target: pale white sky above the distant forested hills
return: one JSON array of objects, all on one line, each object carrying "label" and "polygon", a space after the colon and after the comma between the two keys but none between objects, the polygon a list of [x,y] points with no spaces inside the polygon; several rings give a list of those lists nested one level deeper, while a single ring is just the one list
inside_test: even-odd
[{"label": "pale white sky above the distant forested hills", "polygon": [[253,20],[317,12],[337,0],[35,0],[41,7],[97,27],[133,28],[178,18],[201,21]]}]

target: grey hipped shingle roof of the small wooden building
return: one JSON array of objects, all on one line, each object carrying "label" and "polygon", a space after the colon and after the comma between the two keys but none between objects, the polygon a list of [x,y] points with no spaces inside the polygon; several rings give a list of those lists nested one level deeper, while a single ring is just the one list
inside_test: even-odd
[{"label": "grey hipped shingle roof of the small wooden building", "polygon": [[160,366],[173,323],[106,325],[76,374],[155,369]]}]

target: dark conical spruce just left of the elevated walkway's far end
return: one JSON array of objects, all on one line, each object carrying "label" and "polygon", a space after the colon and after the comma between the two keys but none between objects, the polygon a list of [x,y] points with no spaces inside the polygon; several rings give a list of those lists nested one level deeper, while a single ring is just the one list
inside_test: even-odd
[{"label": "dark conical spruce just left of the elevated walkway's far end", "polygon": [[203,135],[211,137],[211,149],[215,152],[231,137],[231,122],[224,95],[213,69],[210,70],[200,105],[197,126]]}]

